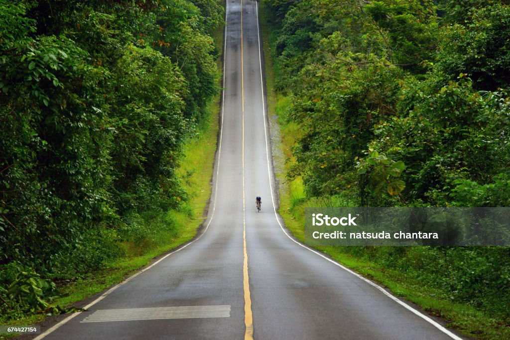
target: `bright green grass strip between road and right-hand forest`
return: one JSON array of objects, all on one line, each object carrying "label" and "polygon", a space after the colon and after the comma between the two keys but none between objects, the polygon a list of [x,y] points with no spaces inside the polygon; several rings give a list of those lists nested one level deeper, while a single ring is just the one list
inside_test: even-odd
[{"label": "bright green grass strip between road and right-hand forest", "polygon": [[[270,115],[278,115],[278,123],[281,129],[281,148],[286,159],[286,169],[294,161],[291,147],[299,138],[299,127],[295,123],[288,123],[282,117],[290,106],[288,97],[274,90],[274,68],[271,60],[271,50],[268,41],[271,41],[268,25],[264,20],[264,9],[262,15],[262,33],[265,52],[265,71],[267,83],[267,101]],[[276,70],[277,71],[277,70]],[[281,160],[282,161],[282,160]],[[285,161],[285,160],[283,160]],[[287,228],[304,243],[304,208],[307,206],[320,206],[316,200],[307,200],[304,195],[302,180],[296,178],[289,182],[285,173],[277,171],[279,179],[280,205],[279,213],[284,218]],[[336,198],[332,206],[353,206],[349,199]],[[341,247],[316,247],[318,250],[328,254],[336,261],[353,269],[354,271],[370,278],[390,289],[396,295],[420,305],[431,315],[442,317],[447,321],[449,327],[460,330],[468,336],[482,339],[508,339],[510,329],[505,325],[485,316],[482,312],[466,304],[452,303],[445,299],[443,292],[424,287],[415,280],[410,280],[403,273],[388,270],[365,259],[356,258],[351,254],[342,252]]]}]

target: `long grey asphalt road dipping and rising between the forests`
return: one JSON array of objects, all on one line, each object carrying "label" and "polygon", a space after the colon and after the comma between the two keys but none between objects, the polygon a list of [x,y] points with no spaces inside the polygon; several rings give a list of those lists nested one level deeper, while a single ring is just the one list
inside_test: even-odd
[{"label": "long grey asphalt road dipping and rising between the forests", "polygon": [[257,4],[227,2],[222,127],[206,231],[38,338],[458,338],[299,245],[279,224]]}]

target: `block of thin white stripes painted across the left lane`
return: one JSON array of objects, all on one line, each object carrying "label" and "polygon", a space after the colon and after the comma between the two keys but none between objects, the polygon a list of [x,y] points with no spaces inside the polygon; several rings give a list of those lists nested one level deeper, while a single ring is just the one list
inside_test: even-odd
[{"label": "block of thin white stripes painted across the left lane", "polygon": [[230,318],[230,305],[100,309],[81,323],[135,320]]}]

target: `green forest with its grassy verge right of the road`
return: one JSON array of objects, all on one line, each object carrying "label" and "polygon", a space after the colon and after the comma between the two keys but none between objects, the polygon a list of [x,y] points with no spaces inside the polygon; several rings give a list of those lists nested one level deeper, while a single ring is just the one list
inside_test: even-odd
[{"label": "green forest with its grassy verge right of the road", "polygon": [[[307,206],[510,205],[507,1],[263,5],[287,159],[280,212],[297,236]],[[508,247],[320,249],[472,307],[453,323],[471,335],[510,336]],[[476,313],[506,335],[475,329]]]}]

